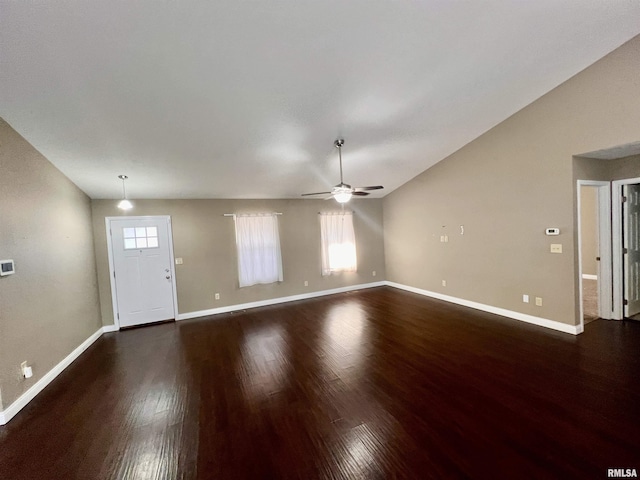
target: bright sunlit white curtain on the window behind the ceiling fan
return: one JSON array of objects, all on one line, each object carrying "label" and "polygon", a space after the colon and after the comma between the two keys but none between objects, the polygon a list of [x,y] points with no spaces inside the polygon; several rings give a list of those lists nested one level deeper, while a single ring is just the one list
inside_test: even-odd
[{"label": "bright sunlit white curtain on the window behind the ceiling fan", "polygon": [[356,236],[351,212],[321,213],[322,275],[355,272]]}]

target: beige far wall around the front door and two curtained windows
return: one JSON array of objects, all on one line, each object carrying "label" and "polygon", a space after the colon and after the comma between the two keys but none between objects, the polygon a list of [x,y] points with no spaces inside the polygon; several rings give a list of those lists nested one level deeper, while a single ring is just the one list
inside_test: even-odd
[{"label": "beige far wall around the front door and two curtained windows", "polygon": [[[113,324],[105,217],[122,216],[117,201],[94,200],[93,228],[98,282],[105,325]],[[286,297],[385,279],[382,200],[354,199],[358,272],[320,275],[319,211],[339,210],[324,200],[134,200],[128,215],[170,215],[176,257],[180,313]],[[279,217],[284,281],[238,287],[233,219],[225,213],[282,212]],[[376,276],[372,272],[376,271]],[[304,286],[304,281],[309,286]],[[220,300],[214,294],[220,293]]]}]

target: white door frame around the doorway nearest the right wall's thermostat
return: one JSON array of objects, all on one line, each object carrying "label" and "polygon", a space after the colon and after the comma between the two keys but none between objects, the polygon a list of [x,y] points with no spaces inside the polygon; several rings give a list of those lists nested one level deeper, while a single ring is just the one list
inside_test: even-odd
[{"label": "white door frame around the doorway nearest the right wall's thermostat", "polygon": [[611,183],[601,180],[577,181],[577,236],[578,236],[578,298],[580,305],[580,331],[584,331],[584,305],[582,295],[582,202],[580,193],[582,187],[596,187],[598,189],[598,314],[600,318],[611,319],[613,305],[611,302],[613,276],[612,276],[612,249],[611,249]]}]

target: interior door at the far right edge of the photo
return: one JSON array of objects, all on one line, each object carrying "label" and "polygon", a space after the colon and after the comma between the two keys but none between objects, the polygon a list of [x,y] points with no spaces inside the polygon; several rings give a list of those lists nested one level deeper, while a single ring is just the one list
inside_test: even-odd
[{"label": "interior door at the far right edge of the photo", "polygon": [[624,247],[624,316],[640,313],[640,184],[624,185],[622,207]]}]

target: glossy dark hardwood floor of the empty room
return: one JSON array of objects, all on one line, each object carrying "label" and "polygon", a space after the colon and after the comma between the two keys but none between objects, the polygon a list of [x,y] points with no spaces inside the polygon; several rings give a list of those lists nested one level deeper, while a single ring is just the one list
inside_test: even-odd
[{"label": "glossy dark hardwood floor of the empty room", "polygon": [[106,334],[8,425],[2,479],[640,472],[640,323],[574,337],[389,287]]}]

